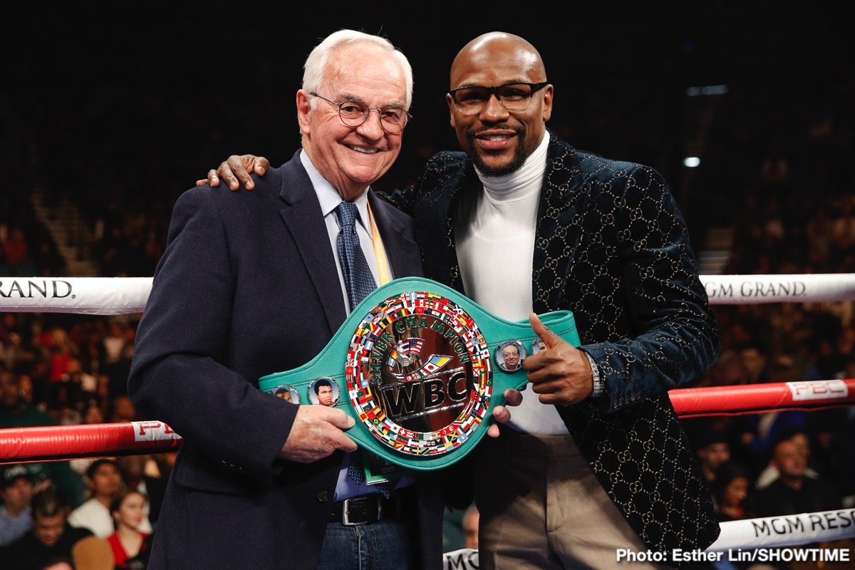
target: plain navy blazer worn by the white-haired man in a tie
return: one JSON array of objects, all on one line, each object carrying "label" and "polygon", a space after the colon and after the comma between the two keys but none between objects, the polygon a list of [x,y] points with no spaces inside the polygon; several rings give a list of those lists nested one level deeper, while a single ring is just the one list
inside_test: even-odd
[{"label": "plain navy blazer worn by the white-haired man in a tie", "polygon": [[[369,200],[393,275],[421,275],[410,217]],[[342,454],[278,459],[298,407],[257,379],[310,361],[345,320],[335,263],[298,154],[254,191],[204,186],[178,199],[129,379],[134,403],[183,439],[150,570],[315,567]],[[440,567],[433,478],[416,494],[416,565]]]}]

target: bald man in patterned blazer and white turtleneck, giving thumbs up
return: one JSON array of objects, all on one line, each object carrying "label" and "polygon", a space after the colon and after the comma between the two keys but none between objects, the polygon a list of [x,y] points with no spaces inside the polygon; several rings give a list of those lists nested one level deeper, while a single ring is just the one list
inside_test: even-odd
[{"label": "bald man in patterned blazer and white turtleneck, giving thumbs up", "polygon": [[[534,394],[475,458],[480,567],[615,567],[618,549],[668,565],[705,549],[719,527],[667,391],[711,367],[719,340],[667,183],[546,129],[553,88],[523,38],[473,39],[450,79],[465,152],[387,198],[416,219],[429,278],[528,318],[545,344],[522,364]],[[231,156],[219,174],[251,188],[247,169],[266,166]],[[534,315],[558,309],[575,314],[578,349]]]}]

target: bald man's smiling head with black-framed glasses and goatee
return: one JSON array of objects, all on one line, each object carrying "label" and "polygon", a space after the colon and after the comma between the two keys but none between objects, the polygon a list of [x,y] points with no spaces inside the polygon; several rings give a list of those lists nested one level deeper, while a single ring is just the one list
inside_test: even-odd
[{"label": "bald man's smiling head with black-framed glasses and goatee", "polygon": [[[540,54],[526,40],[503,32],[490,32],[463,47],[451,64],[451,87],[494,87],[509,83],[546,80]],[[552,85],[535,91],[531,103],[509,111],[490,97],[480,113],[466,115],[445,96],[457,141],[475,166],[490,176],[502,176],[522,166],[543,140],[552,113]]]}]

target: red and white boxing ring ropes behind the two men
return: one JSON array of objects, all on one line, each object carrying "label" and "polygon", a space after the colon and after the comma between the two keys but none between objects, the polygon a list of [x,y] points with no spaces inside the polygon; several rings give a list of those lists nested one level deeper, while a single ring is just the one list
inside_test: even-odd
[{"label": "red and white boxing ring ropes behind the two men", "polygon": [[[701,281],[714,305],[855,300],[853,273],[701,275]],[[151,283],[151,278],[0,277],[0,312],[138,314]],[[681,418],[840,408],[855,404],[855,379],[681,388],[669,391],[669,397]],[[157,420],[6,428],[0,429],[0,464],[164,453],[180,443],[180,435]],[[848,549],[785,547],[855,538],[855,508],[734,520],[721,528],[709,549],[687,555],[699,556],[694,561],[721,561],[726,553],[723,559],[729,561],[799,561],[804,556],[806,561],[846,562],[852,561]],[[626,554],[645,561],[637,557],[655,553]],[[445,567],[477,568],[477,550],[445,553]]]}]

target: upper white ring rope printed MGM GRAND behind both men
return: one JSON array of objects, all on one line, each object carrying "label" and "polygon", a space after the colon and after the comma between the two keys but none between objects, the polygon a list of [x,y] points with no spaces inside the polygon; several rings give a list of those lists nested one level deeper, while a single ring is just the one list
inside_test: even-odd
[{"label": "upper white ring rope printed MGM GRAND behind both men", "polygon": [[[141,313],[150,277],[0,277],[0,312]],[[855,299],[855,273],[701,275],[710,303],[814,303]]]}]

